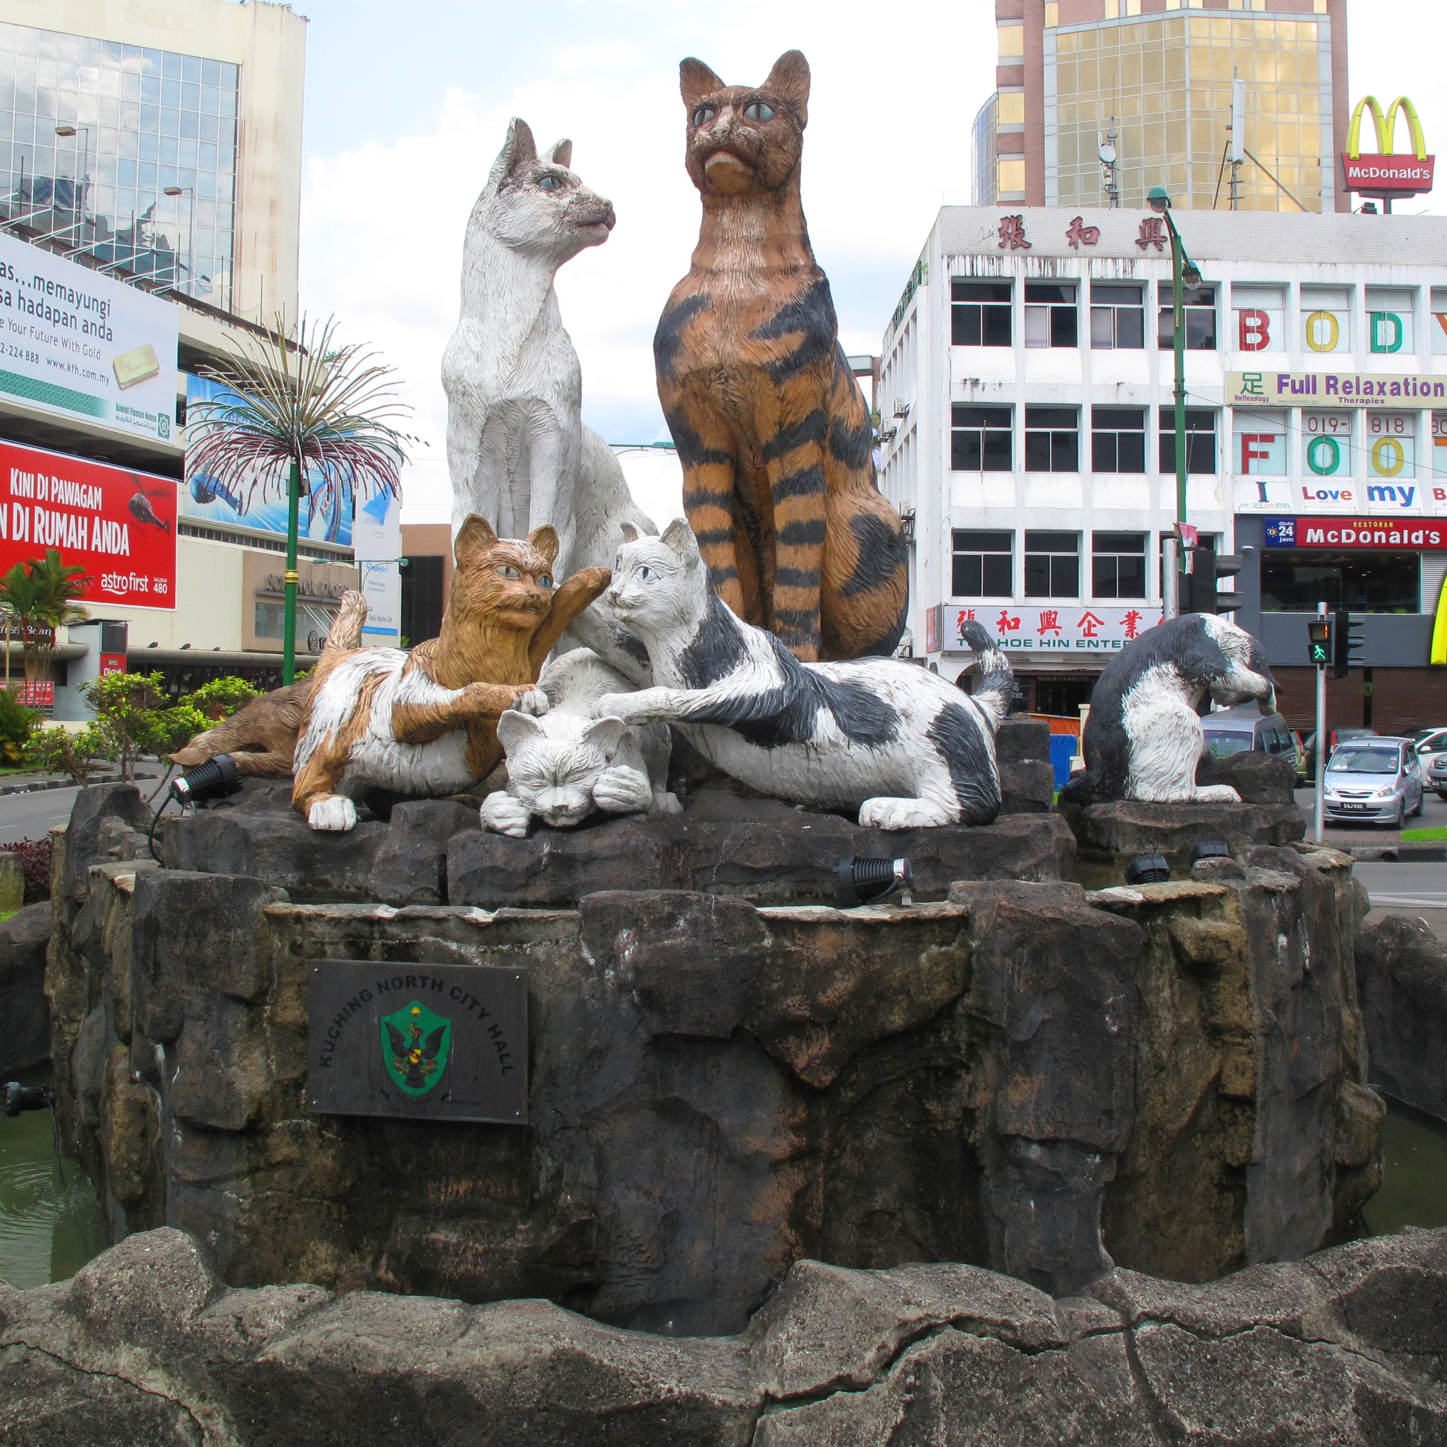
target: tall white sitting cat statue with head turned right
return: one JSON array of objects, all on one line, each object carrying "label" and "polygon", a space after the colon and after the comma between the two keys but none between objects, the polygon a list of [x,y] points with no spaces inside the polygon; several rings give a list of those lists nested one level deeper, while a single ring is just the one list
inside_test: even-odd
[{"label": "tall white sitting cat statue with head turned right", "polygon": [[[453,532],[473,512],[498,537],[550,525],[560,577],[606,567],[624,522],[657,532],[612,449],[582,423],[582,373],[553,278],[608,240],[614,208],[569,169],[572,159],[570,140],[540,158],[527,122],[508,126],[467,221],[462,308],[443,353]],[[589,609],[569,632],[647,682],[637,640],[606,611]]]}]

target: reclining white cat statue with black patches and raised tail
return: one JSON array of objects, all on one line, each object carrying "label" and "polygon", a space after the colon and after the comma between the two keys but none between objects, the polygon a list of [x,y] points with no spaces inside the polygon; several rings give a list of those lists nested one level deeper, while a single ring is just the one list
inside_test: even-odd
[{"label": "reclining white cat statue with black patches and raised tail", "polygon": [[980,825],[1000,812],[994,732],[1014,682],[978,624],[964,625],[983,674],[974,695],[897,658],[800,663],[728,609],[682,519],[624,543],[606,596],[648,650],[655,686],[605,695],[598,718],[671,724],[752,789],[858,807],[861,825]]}]

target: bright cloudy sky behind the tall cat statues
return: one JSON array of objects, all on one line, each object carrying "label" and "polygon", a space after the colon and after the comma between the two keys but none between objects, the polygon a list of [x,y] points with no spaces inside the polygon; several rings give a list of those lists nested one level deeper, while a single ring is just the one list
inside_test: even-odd
[{"label": "bright cloudy sky behind the tall cat statues", "polygon": [[[521,116],[567,136],[618,226],[557,279],[583,369],[583,420],[611,443],[667,440],[651,340],[697,237],[677,65],[757,84],[809,58],[803,203],[848,352],[875,352],[942,204],[969,201],[969,126],[993,88],[994,0],[292,0],[308,17],[301,304],[334,314],[399,375],[421,443],[404,521],[449,517],[443,347],[457,321],[467,214]],[[1353,103],[1411,96],[1447,168],[1444,0],[1349,0]],[[1411,43],[1404,43],[1408,39]],[[1399,149],[1405,126],[1399,126]],[[1367,136],[1370,143],[1370,124]],[[1435,195],[1401,211],[1447,211]],[[676,464],[631,451],[640,504],[677,512]]]}]

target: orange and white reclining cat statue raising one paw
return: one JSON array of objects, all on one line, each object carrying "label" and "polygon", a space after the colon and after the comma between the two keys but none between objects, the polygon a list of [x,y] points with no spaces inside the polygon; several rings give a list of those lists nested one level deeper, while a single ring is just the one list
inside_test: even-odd
[{"label": "orange and white reclining cat statue raising one paw", "polygon": [[291,803],[313,829],[352,829],[369,790],[454,794],[502,758],[498,718],[543,713],[534,687],[569,624],[608,586],[585,567],[554,586],[559,538],[499,538],[476,514],[457,530],[441,632],[410,653],[357,648],[317,664],[297,739]]}]

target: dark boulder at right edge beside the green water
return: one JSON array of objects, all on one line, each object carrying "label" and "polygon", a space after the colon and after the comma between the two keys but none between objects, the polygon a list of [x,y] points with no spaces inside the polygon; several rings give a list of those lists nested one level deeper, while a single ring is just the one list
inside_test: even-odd
[{"label": "dark boulder at right edge beside the green water", "polygon": [[1388,915],[1357,939],[1356,969],[1373,1084],[1447,1120],[1447,946]]}]

